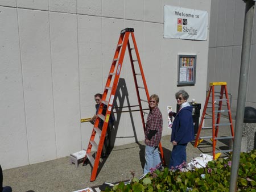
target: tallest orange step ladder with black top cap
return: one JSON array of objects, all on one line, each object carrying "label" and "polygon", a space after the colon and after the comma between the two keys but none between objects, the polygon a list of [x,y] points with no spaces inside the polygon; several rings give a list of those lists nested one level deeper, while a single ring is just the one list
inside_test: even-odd
[{"label": "tallest orange step ladder with black top cap", "polygon": [[[133,43],[132,48],[131,48],[131,44],[129,41],[129,37],[131,37],[131,40]],[[144,122],[144,114],[143,114],[144,109],[142,108],[142,102],[146,102],[147,106],[148,106],[149,100],[150,100],[150,95],[148,94],[148,89],[147,89],[147,84],[146,84],[146,80],[145,80],[143,69],[142,69],[141,59],[139,57],[139,52],[138,52],[137,44],[136,44],[135,37],[134,37],[134,29],[133,28],[125,28],[124,30],[121,31],[121,34],[120,34],[120,37],[118,40],[117,48],[115,50],[114,58],[113,58],[112,65],[111,65],[111,68],[109,71],[108,80],[106,81],[104,93],[102,94],[102,102],[100,103],[100,107],[98,109],[97,119],[94,123],[92,135],[90,136],[90,141],[89,141],[88,148],[86,150],[86,155],[84,158],[84,162],[85,162],[85,160],[89,160],[90,164],[93,167],[90,181],[96,180],[98,165],[99,165],[100,158],[101,158],[101,151],[102,151],[102,148],[104,145],[105,135],[106,135],[106,131],[108,128],[108,122],[109,122],[110,114],[112,111],[112,106],[113,106],[114,97],[115,97],[115,91],[117,90],[118,80],[119,80],[119,76],[121,73],[126,48],[129,51],[131,69],[133,71],[134,83],[135,83],[135,88],[136,88],[136,92],[137,92],[138,104],[139,104],[138,106],[139,106],[139,111],[141,113],[141,119],[142,119],[144,132],[146,130],[145,122]],[[132,51],[135,51],[135,53]],[[137,57],[137,58],[133,59],[133,56]],[[134,63],[136,63],[138,65],[134,65]],[[139,73],[136,73],[135,69],[139,70]],[[140,76],[142,78],[143,85],[141,85],[141,86],[138,86],[138,81],[137,81],[138,76]],[[145,100],[141,99],[140,90],[145,91],[144,94],[146,94],[146,97],[147,97]],[[106,113],[104,112],[105,113],[105,115],[104,115],[102,113],[105,108],[107,110],[106,110]],[[100,128],[98,128],[98,125],[99,125],[101,119],[104,120],[102,131],[100,130]],[[98,144],[96,143],[96,141],[94,141],[96,134],[98,134],[100,136],[100,141]],[[94,154],[92,154],[92,147],[96,148],[96,151],[97,151]],[[160,150],[160,155],[162,157],[163,164],[164,164],[164,156],[163,156],[163,149],[162,149],[161,143],[159,144],[159,150]]]}]

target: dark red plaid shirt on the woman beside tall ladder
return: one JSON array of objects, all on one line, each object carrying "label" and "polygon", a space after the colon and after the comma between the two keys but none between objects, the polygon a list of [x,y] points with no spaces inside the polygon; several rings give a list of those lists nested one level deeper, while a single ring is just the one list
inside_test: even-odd
[{"label": "dark red plaid shirt on the woman beside tall ladder", "polygon": [[[148,140],[147,134],[150,130],[156,130],[158,132]],[[147,116],[147,125],[146,125],[146,133],[145,133],[145,144],[151,147],[156,147],[159,145],[163,131],[163,117],[162,113],[158,107],[150,110],[150,114]]]}]

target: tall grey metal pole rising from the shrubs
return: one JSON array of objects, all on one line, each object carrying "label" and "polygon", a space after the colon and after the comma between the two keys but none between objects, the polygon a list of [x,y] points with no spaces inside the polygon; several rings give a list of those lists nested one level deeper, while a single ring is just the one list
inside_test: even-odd
[{"label": "tall grey metal pole rising from the shrubs", "polygon": [[245,99],[247,90],[247,78],[250,63],[251,33],[253,29],[254,1],[247,0],[245,8],[245,24],[243,27],[243,43],[241,56],[240,81],[238,87],[236,127],[234,134],[232,167],[230,175],[229,192],[237,191],[237,176],[241,152],[243,116],[245,114]]}]

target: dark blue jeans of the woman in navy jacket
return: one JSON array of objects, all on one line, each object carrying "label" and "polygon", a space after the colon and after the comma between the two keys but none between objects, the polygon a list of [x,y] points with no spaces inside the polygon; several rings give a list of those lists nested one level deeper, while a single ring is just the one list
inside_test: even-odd
[{"label": "dark blue jeans of the woman in navy jacket", "polygon": [[180,165],[183,163],[183,161],[187,161],[187,154],[186,154],[186,144],[182,145],[174,145],[174,148],[172,148],[172,153],[171,153],[171,159],[169,163],[169,169],[173,166],[174,168],[177,165]]}]

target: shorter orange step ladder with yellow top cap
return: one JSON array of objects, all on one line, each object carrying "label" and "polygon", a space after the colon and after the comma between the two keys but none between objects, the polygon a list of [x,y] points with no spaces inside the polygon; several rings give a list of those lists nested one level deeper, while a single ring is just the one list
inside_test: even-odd
[{"label": "shorter orange step ladder with yellow top cap", "polygon": [[[221,86],[221,87],[218,87],[220,88],[220,93],[218,94],[214,93],[214,86]],[[225,95],[225,98],[223,97],[224,95]],[[212,98],[212,101],[209,101],[210,97]],[[226,105],[224,105],[225,104],[224,102],[226,102]],[[225,109],[222,108],[222,106],[226,106]],[[210,112],[207,112],[207,109],[209,111],[209,108],[210,108]],[[229,123],[220,122],[221,114],[223,112],[228,112]],[[205,119],[212,119],[212,127],[202,127]],[[218,137],[218,129],[221,126],[230,126],[231,136]],[[204,130],[204,129],[212,129],[212,136],[200,136],[201,130]],[[232,149],[222,150],[222,151],[215,150],[217,140],[234,139],[234,129],[232,124],[232,117],[231,117],[226,82],[210,82],[209,89],[207,92],[207,98],[204,104],[204,111],[201,116],[201,121],[199,124],[199,129],[197,131],[194,147],[197,147],[201,143],[201,141],[206,139],[212,140],[212,155],[214,160],[216,159],[216,156],[219,156],[221,153],[232,152]]]}]

